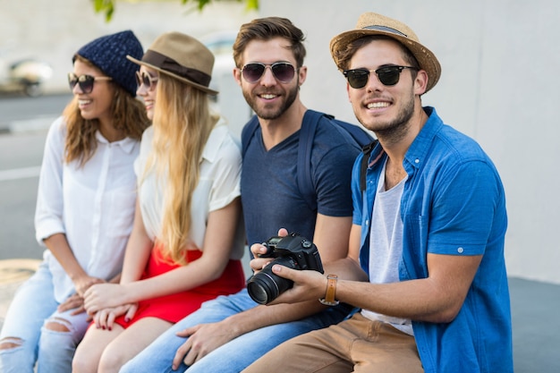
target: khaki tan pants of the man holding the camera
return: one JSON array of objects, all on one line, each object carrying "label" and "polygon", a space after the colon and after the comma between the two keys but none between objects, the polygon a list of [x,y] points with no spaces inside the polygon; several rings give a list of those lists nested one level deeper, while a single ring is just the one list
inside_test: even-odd
[{"label": "khaki tan pants of the man holding the camera", "polygon": [[243,373],[422,373],[414,337],[360,313],[288,340]]}]

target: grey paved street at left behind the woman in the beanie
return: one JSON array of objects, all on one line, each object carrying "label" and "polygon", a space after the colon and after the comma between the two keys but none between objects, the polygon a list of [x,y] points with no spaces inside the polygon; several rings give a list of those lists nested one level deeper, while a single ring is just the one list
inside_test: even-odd
[{"label": "grey paved street at left behind the woman in the beanie", "polygon": [[40,259],[33,216],[47,128],[69,95],[0,96],[0,259]]}]

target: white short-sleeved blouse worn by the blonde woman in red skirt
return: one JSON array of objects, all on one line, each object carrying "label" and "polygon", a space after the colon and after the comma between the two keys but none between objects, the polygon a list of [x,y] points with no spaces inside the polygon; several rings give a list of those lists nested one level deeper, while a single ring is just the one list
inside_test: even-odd
[{"label": "white short-sleeved blouse worn by the blonde woman in red skirt", "polygon": [[[241,195],[240,177],[242,156],[239,144],[233,140],[229,129],[220,120],[210,133],[200,160],[199,184],[192,195],[191,236],[199,250],[204,249],[204,235],[208,223],[208,213],[225,208],[233,199]],[[140,212],[148,237],[154,241],[161,234],[164,207],[165,181],[157,180],[156,172],[143,175],[152,148],[154,129],[144,131],[140,145],[140,157],[134,163],[139,182]],[[230,259],[241,259],[245,244],[244,225],[238,225]]]}]

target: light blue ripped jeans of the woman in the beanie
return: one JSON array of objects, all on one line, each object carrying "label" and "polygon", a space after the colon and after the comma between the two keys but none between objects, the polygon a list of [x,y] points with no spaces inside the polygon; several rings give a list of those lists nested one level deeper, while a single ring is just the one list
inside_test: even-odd
[{"label": "light blue ripped jeans of the woman in the beanie", "polygon": [[[57,312],[51,273],[45,262],[16,291],[0,332],[0,372],[38,373],[72,371],[76,346],[89,326],[86,313]],[[68,332],[49,330],[59,324]],[[4,348],[3,343],[15,347]]]}]

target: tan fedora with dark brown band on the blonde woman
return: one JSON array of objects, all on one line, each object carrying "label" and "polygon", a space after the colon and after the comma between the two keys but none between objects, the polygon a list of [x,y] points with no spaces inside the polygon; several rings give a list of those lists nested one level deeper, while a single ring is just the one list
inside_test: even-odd
[{"label": "tan fedora with dark brown band on the blonde woman", "polygon": [[127,55],[126,58],[211,95],[218,93],[208,88],[212,79],[214,55],[196,38],[180,32],[166,32],[149,46],[141,61],[131,55]]}]

